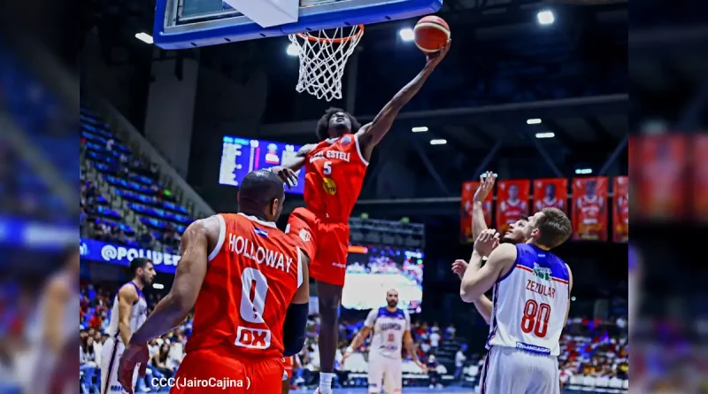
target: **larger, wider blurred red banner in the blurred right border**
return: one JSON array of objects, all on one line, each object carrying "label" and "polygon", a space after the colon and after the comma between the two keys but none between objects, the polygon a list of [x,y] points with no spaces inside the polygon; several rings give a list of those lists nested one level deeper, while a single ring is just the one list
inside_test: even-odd
[{"label": "larger, wider blurred red banner in the blurred right border", "polygon": [[644,136],[636,148],[640,163],[637,165],[639,189],[636,196],[639,216],[682,219],[687,200],[684,188],[688,153],[685,136]]}]

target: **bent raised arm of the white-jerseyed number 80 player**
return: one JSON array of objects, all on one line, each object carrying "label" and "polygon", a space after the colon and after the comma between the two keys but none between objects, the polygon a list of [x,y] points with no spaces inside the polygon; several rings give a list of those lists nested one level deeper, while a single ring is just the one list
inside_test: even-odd
[{"label": "bent raised arm of the white-jerseyed number 80 player", "polygon": [[481,267],[481,253],[477,250],[477,243],[496,243],[498,237],[496,231],[487,230],[474,242],[473,259],[470,260],[470,265],[460,284],[459,295],[463,301],[468,303],[476,301],[492,287],[494,282],[512,266],[516,259],[516,246],[503,243],[491,252],[487,264]]}]

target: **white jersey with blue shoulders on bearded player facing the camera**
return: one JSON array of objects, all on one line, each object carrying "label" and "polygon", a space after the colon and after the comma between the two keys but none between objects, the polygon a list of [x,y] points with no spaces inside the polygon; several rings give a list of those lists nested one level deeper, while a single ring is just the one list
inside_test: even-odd
[{"label": "white jersey with blue shoulders on bearded player facing the camera", "polygon": [[404,344],[404,333],[411,329],[411,316],[403,309],[389,311],[386,306],[373,309],[367,316],[364,325],[373,328],[370,352],[400,359]]}]

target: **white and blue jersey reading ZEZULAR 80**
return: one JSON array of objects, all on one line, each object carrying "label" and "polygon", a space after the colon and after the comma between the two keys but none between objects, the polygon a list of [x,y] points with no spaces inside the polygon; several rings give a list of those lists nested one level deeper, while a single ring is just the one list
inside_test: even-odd
[{"label": "white and blue jersey reading ZEZULAR 80", "polygon": [[570,302],[568,268],[535,245],[519,243],[516,251],[511,270],[494,285],[487,348],[558,356]]}]

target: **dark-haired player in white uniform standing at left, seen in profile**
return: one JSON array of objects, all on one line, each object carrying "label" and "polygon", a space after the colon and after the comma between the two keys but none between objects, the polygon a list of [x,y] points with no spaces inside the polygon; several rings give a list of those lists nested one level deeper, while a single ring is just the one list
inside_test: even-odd
[{"label": "dark-haired player in white uniform standing at left, seen in profile", "polygon": [[[130,336],[148,318],[148,303],[142,289],[155,279],[155,268],[150,259],[135,258],[130,262],[130,272],[133,280],[120,286],[113,299],[108,339],[101,355],[101,394],[123,393],[118,380],[118,360],[130,342]],[[128,377],[131,390],[135,388],[137,379],[136,373]]]}]

